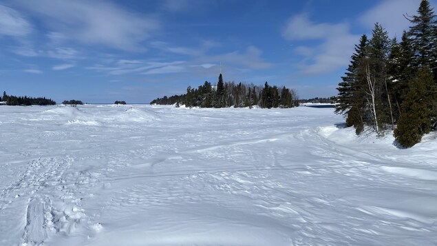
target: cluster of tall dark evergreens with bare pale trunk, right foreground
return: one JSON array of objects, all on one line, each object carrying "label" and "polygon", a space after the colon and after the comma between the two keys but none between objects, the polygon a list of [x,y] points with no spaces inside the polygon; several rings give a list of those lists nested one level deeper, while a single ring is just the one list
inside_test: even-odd
[{"label": "cluster of tall dark evergreens with bare pale trunk, right foreground", "polygon": [[337,88],[336,112],[356,134],[365,126],[379,135],[394,130],[396,141],[411,147],[437,127],[437,20],[427,0],[405,18],[412,26],[401,41],[379,23],[372,37],[361,36]]}]

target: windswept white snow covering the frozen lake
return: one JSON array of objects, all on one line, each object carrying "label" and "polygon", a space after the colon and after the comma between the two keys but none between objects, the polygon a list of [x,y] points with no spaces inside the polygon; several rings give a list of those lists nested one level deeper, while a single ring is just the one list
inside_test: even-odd
[{"label": "windswept white snow covering the frozen lake", "polygon": [[0,107],[0,245],[436,245],[437,141],[332,108]]}]

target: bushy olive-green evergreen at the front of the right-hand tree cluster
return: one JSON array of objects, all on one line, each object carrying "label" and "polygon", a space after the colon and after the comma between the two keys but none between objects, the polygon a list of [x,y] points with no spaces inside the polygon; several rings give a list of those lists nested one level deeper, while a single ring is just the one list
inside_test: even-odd
[{"label": "bushy olive-green evergreen at the front of the right-hand tree cluster", "polygon": [[431,107],[436,90],[434,76],[429,68],[421,68],[409,84],[409,92],[401,106],[394,136],[404,147],[412,147],[420,142],[423,134],[431,128]]}]

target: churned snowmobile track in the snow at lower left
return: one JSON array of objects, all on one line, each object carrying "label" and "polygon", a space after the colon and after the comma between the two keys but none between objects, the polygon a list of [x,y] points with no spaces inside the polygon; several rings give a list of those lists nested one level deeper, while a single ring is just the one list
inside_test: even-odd
[{"label": "churned snowmobile track in the snow at lower left", "polygon": [[[16,199],[27,199],[25,227],[19,245],[42,245],[51,235],[70,234],[78,223],[87,218],[77,198],[76,185],[64,185],[67,178],[77,181],[85,172],[65,175],[73,163],[70,157],[38,158],[0,194],[0,211],[10,207]],[[45,190],[45,187],[56,186]]]}]

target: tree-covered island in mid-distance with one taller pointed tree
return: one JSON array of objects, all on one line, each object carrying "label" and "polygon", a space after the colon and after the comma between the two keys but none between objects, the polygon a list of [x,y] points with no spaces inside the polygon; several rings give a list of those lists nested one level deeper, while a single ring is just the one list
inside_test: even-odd
[{"label": "tree-covered island in mid-distance with one taller pointed tree", "polygon": [[253,84],[224,82],[222,74],[216,86],[205,81],[198,88],[186,88],[186,94],[164,96],[150,104],[185,105],[186,107],[295,107],[299,105],[297,93],[285,86],[278,88],[264,83],[264,87]]}]

